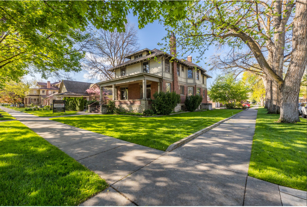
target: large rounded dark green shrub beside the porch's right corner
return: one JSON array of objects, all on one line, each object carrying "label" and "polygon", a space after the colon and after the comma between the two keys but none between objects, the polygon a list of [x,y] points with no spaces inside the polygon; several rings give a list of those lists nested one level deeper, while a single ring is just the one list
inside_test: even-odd
[{"label": "large rounded dark green shrub beside the porch's right corner", "polygon": [[157,115],[169,115],[180,103],[180,95],[176,92],[155,92],[153,98],[151,106]]}]

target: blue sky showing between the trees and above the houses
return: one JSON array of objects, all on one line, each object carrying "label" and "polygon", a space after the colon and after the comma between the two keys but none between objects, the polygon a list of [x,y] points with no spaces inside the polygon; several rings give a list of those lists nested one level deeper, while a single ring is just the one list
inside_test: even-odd
[{"label": "blue sky showing between the trees and above the houses", "polygon": [[[133,16],[133,14],[129,14],[128,18],[130,20],[131,23],[135,24],[135,27],[138,28],[138,18],[137,16]],[[157,45],[157,43],[162,42],[162,38],[165,37],[166,35],[166,31],[163,25],[159,24],[158,21],[155,21],[151,24],[145,25],[145,28],[143,29],[138,29],[138,37],[139,37],[139,43],[140,43],[140,49],[143,48],[148,48],[148,49],[160,49],[160,47]],[[175,34],[176,35],[176,34]],[[169,52],[169,51],[166,51]],[[214,48],[209,48],[206,53],[205,56],[207,57],[207,59],[214,54]],[[192,54],[192,57],[196,57],[198,54],[194,53]],[[185,57],[184,57],[185,58]],[[204,57],[203,57],[204,58]],[[202,66],[203,68],[205,68],[204,63],[200,62],[198,63],[200,66]],[[207,69],[207,68],[205,68]],[[209,78],[207,80],[207,87],[209,87],[210,83],[212,83],[212,81],[215,78],[215,75],[217,73],[217,71],[208,71],[207,72],[210,76],[212,76],[213,78]],[[79,73],[71,73],[71,76],[76,79],[77,81],[82,81],[82,82],[95,82],[93,80],[87,80],[86,78],[84,78],[84,75],[86,74],[85,71],[79,72]],[[39,74],[35,74],[35,77],[37,80],[41,80],[41,76]],[[33,77],[31,76],[27,76],[27,79],[32,79]],[[54,78],[50,78],[50,80],[53,80]],[[44,80],[44,79],[43,79]]]}]

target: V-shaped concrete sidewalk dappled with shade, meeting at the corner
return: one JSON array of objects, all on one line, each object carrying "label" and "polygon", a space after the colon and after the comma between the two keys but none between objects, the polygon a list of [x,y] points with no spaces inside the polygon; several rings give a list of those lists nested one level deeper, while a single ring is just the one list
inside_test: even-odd
[{"label": "V-shaped concrete sidewalk dappled with shade, meeting at the corner", "polygon": [[106,179],[80,205],[306,205],[306,192],[247,176],[257,110],[166,153],[1,107]]}]

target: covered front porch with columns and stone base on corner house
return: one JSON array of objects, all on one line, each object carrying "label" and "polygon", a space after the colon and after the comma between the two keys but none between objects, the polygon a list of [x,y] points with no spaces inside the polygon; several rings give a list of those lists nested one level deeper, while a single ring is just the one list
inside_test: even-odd
[{"label": "covered front porch with columns and stone base on corner house", "polygon": [[[153,99],[153,94],[162,90],[161,81],[161,76],[139,73],[103,81],[98,85],[100,86],[100,94],[103,94],[103,88],[112,88],[112,99],[117,106],[142,113],[151,108],[150,98]],[[103,100],[100,101],[100,104],[102,103]]]}]

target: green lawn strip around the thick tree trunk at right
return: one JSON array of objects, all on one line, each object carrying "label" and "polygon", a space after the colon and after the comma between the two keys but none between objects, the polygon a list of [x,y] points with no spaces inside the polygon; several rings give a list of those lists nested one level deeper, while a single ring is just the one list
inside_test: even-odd
[{"label": "green lawn strip around the thick tree trunk at right", "polygon": [[306,119],[274,123],[279,115],[266,113],[258,109],[249,176],[306,190]]}]

